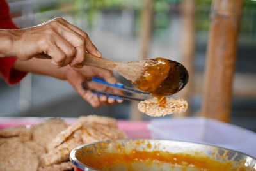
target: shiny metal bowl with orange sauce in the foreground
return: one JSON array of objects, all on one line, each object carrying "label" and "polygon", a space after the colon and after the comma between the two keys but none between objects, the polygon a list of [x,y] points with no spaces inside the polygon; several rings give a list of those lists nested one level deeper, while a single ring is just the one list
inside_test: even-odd
[{"label": "shiny metal bowl with orange sauce in the foreground", "polygon": [[[151,155],[150,160],[141,160],[141,157],[145,159],[145,156],[141,155],[138,158],[132,158],[134,160],[130,163],[120,162],[122,155],[126,155],[125,159],[127,155],[133,155],[134,151],[148,152],[150,155],[153,154],[152,152],[157,152],[154,153],[157,157],[154,158],[152,157],[154,155]],[[119,157],[111,158],[108,154],[115,154]],[[168,156],[168,160],[172,160],[172,162],[166,163],[162,159],[158,159],[159,156],[166,156],[166,154],[172,155]],[[256,159],[241,152],[212,145],[174,140],[125,139],[85,144],[70,152],[70,161],[76,166],[77,171],[256,170]],[[109,161],[110,163],[113,161],[111,167],[107,167]]]}]

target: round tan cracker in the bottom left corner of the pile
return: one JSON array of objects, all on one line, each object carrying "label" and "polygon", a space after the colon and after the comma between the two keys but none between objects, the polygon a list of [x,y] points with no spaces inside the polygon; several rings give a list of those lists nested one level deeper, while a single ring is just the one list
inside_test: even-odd
[{"label": "round tan cracker in the bottom left corner of the pile", "polygon": [[36,171],[38,168],[35,152],[15,140],[0,146],[0,161],[0,170],[26,171],[29,168],[29,171]]}]

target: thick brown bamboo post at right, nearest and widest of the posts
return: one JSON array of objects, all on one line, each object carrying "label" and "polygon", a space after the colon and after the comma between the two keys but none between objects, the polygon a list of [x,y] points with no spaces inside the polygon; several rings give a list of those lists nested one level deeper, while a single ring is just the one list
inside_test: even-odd
[{"label": "thick brown bamboo post at right, nearest and widest of the posts", "polygon": [[243,0],[212,1],[202,115],[228,122]]}]

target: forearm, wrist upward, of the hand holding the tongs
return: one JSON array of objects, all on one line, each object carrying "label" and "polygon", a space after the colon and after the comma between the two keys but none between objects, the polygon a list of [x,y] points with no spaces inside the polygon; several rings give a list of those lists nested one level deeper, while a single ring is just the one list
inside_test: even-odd
[{"label": "forearm, wrist upward, of the hand holding the tongs", "polygon": [[13,66],[13,68],[18,71],[47,75],[61,80],[66,80],[65,73],[68,70],[68,67],[70,66],[57,68],[51,64],[51,60],[38,58],[32,58],[28,61],[21,61],[20,59],[17,59]]}]

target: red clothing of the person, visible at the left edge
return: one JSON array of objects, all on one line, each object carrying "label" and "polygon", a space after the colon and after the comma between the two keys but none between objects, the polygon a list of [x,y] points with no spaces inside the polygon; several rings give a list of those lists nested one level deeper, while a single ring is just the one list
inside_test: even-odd
[{"label": "red clothing of the person, visible at the left edge", "polygon": [[[17,29],[13,24],[10,15],[9,7],[6,1],[0,0],[0,29]],[[26,73],[13,69],[13,65],[17,58],[15,57],[1,57],[0,58],[0,75],[4,80],[12,85],[20,82],[25,77]]]}]

